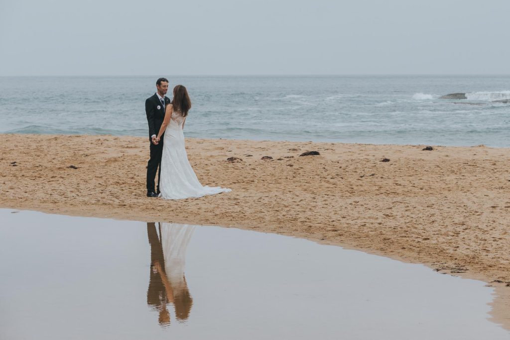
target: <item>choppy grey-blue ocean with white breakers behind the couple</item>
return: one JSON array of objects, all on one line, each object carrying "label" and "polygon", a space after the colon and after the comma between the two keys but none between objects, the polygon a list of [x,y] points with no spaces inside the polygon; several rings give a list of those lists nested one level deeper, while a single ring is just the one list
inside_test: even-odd
[{"label": "choppy grey-blue ocean with white breakers behind the couple", "polygon": [[[508,75],[164,76],[186,137],[510,147]],[[0,77],[0,133],[148,137],[157,77]]]}]

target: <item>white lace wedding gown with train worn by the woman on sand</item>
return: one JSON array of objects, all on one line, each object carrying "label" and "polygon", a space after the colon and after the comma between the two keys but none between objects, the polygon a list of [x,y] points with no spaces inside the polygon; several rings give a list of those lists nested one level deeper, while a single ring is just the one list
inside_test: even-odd
[{"label": "white lace wedding gown with train worn by the woman on sand", "polygon": [[165,130],[161,158],[160,197],[182,199],[228,192],[231,189],[202,186],[188,161],[184,147],[184,117],[173,112]]}]

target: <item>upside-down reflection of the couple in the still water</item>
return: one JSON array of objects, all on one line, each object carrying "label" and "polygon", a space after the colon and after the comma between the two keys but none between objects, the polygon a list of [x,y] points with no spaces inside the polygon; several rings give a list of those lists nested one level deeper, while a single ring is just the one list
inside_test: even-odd
[{"label": "upside-down reflection of the couple in the still water", "polygon": [[170,324],[168,304],[173,304],[175,318],[185,321],[190,315],[191,298],[184,276],[186,248],[194,226],[176,223],[147,223],[150,244],[150,279],[147,304],[159,311],[159,323]]}]

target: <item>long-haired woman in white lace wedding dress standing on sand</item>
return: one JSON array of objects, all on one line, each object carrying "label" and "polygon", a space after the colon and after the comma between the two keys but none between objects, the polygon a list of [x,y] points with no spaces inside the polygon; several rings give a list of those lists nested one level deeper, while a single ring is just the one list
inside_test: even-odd
[{"label": "long-haired woman in white lace wedding dress standing on sand", "polygon": [[[184,147],[183,128],[191,108],[188,91],[182,85],[173,88],[173,99],[165,110],[165,119],[156,141],[165,134],[161,158],[160,197],[183,199],[229,192],[231,189],[202,186],[193,171]],[[165,132],[166,131],[166,132]]]}]

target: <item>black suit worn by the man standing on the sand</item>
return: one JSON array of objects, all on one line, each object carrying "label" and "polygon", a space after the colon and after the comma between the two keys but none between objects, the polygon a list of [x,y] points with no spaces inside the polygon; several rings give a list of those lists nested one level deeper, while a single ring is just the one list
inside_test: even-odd
[{"label": "black suit worn by the man standing on the sand", "polygon": [[[170,99],[165,96],[165,107],[170,103]],[[158,109],[159,107],[159,109]],[[149,140],[150,136],[158,136],[163,119],[165,119],[165,107],[161,104],[161,100],[155,93],[153,96],[148,97],[145,100],[145,114],[147,115],[147,123],[149,124]],[[161,178],[161,155],[163,153],[163,134],[158,145],[150,142],[150,159],[147,163],[147,191],[152,192],[154,190],[154,179],[156,177],[156,171],[158,171],[158,192],[159,192],[159,180]]]}]

